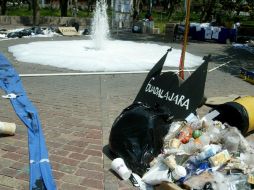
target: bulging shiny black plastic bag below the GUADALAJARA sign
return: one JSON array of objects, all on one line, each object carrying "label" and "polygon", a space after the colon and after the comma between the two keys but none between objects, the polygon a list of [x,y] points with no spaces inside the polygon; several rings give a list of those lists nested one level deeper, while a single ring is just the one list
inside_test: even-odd
[{"label": "bulging shiny black plastic bag below the GUADALAJARA sign", "polygon": [[116,118],[109,148],[135,173],[143,175],[163,147],[163,137],[171,123],[168,110],[134,103]]}]

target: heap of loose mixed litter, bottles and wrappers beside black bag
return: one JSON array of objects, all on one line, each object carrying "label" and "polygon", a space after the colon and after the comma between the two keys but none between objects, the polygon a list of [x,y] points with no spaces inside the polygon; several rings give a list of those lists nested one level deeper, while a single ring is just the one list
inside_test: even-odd
[{"label": "heap of loose mixed litter, bottles and wrappers beside black bag", "polygon": [[[146,185],[140,189],[156,185],[158,189],[252,189],[251,145],[237,128],[207,116],[199,119],[191,114],[171,124],[163,151],[150,162],[149,171],[142,177]],[[162,183],[164,188],[158,186]],[[177,185],[174,188],[170,186],[173,183]]]}]

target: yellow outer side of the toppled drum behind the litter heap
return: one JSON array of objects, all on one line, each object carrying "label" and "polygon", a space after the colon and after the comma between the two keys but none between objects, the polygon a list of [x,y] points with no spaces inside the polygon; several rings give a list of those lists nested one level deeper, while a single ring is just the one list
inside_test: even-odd
[{"label": "yellow outer side of the toppled drum behind the litter heap", "polygon": [[249,126],[246,133],[254,130],[254,96],[246,96],[243,98],[238,98],[234,102],[242,105],[248,113]]}]

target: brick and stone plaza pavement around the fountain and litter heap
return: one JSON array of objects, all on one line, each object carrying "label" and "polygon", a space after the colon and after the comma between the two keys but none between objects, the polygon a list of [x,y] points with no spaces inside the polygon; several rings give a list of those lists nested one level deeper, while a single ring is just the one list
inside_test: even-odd
[{"label": "brick and stone plaza pavement around the fountain and litter heap", "polygon": [[[146,36],[116,37],[147,40]],[[72,39],[83,38],[22,38],[0,41],[0,51],[8,57],[19,73],[72,72],[17,62],[8,53],[8,47],[14,44]],[[156,43],[168,44],[161,39]],[[177,43],[171,45],[180,47]],[[233,50],[228,45],[204,42],[189,43],[188,51],[200,56],[211,53],[212,62],[209,69],[231,61],[208,73],[205,89],[207,97],[254,95],[253,85],[237,77],[239,66],[253,64],[253,56],[250,54]],[[135,189],[129,182],[120,180],[110,171],[111,160],[104,153],[114,119],[122,109],[132,103],[145,76],[146,74],[22,77],[24,88],[39,112],[59,190]],[[2,91],[0,95],[3,95]],[[200,113],[204,114],[207,110],[208,108],[203,107]],[[0,121],[17,124],[15,136],[0,137],[0,189],[27,190],[27,130],[15,115],[9,101],[2,98]]]}]

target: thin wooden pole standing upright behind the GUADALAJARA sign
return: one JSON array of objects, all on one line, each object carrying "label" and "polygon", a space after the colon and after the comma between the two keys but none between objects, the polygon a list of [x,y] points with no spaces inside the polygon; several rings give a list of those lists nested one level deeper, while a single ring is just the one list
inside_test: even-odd
[{"label": "thin wooden pole standing upright behind the GUADALAJARA sign", "polygon": [[185,51],[188,42],[188,33],[189,33],[189,25],[190,25],[190,4],[191,0],[186,0],[186,17],[185,17],[185,30],[184,30],[184,40],[182,53],[179,64],[179,76],[184,79],[184,60],[185,60]]}]

